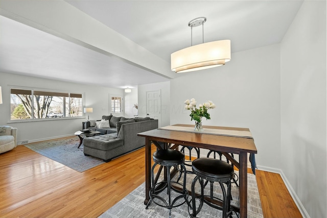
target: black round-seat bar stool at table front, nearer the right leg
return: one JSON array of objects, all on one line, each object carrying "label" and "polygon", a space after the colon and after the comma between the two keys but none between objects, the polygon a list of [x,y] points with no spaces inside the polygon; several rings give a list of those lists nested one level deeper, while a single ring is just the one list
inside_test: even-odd
[{"label": "black round-seat bar stool at table front, nearer the right leg", "polygon": [[[234,178],[234,169],[233,167],[221,160],[214,158],[198,158],[192,163],[192,170],[196,177],[192,182],[192,204],[189,204],[189,207],[192,209],[192,213],[189,212],[191,217],[196,217],[196,215],[200,212],[203,203],[214,207],[216,209],[222,210],[223,218],[227,218],[231,216],[232,210],[230,207],[231,200],[231,180]],[[210,182],[210,195],[204,195],[204,180],[208,180]],[[195,184],[199,181],[201,186],[201,194],[195,195]],[[213,183],[219,182],[220,187],[223,193],[223,199],[219,199],[214,196],[213,191]],[[227,185],[227,190],[224,186]],[[199,199],[198,209],[196,208],[196,199]],[[222,205],[217,205],[212,203],[213,201],[222,202]]]}]

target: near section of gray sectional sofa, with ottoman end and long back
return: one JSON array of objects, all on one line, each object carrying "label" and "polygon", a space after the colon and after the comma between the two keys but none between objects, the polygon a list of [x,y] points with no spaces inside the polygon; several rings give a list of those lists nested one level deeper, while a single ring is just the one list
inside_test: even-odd
[{"label": "near section of gray sectional sofa, with ottoman end and long back", "polygon": [[[84,155],[94,156],[108,162],[115,157],[144,147],[145,138],[137,136],[137,133],[158,128],[158,120],[150,119],[149,117],[123,117],[120,120],[122,121],[116,122],[116,132],[84,138]],[[88,129],[90,128],[88,127]],[[100,131],[99,129],[102,130]],[[104,131],[110,132],[114,131],[114,127],[97,128],[94,130],[101,133]]]}]

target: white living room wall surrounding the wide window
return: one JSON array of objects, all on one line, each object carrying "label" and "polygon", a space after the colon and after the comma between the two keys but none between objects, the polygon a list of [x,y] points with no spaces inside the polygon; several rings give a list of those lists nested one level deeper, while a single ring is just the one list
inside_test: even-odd
[{"label": "white living room wall surrounding the wide window", "polygon": [[0,125],[17,127],[17,141],[29,140],[30,142],[73,135],[77,130],[82,129],[82,122],[87,119],[87,114],[86,118],[10,123],[11,86],[37,87],[84,93],[85,106],[93,108],[93,113],[89,114],[90,119],[101,119],[102,115],[109,115],[109,94],[120,94],[123,96],[124,92],[122,89],[60,82],[56,80],[5,74],[2,72],[0,72],[0,86],[2,86],[3,92],[3,104],[0,105]]}]

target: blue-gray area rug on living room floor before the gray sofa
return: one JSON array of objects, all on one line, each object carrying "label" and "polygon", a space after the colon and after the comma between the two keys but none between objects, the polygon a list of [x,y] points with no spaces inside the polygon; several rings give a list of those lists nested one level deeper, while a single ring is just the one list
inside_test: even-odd
[{"label": "blue-gray area rug on living room floor before the gray sofa", "polygon": [[80,139],[78,137],[64,138],[26,144],[25,147],[62,163],[69,168],[75,169],[80,173],[105,163],[99,158],[85,156],[83,153],[83,144],[80,148],[77,148],[79,142]]}]

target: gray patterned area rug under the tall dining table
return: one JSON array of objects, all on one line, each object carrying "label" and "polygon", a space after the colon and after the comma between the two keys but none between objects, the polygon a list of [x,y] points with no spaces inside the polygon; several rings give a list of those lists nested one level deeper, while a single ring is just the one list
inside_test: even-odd
[{"label": "gray patterned area rug under the tall dining table", "polygon": [[[238,174],[238,172],[235,172]],[[191,183],[193,180],[193,175],[189,176],[186,179],[186,188],[191,190]],[[174,178],[175,179],[175,178]],[[217,193],[218,196],[221,196],[221,188],[217,185],[218,183],[214,183],[214,193]],[[198,185],[196,187],[199,189]],[[210,189],[209,183],[206,186],[206,190]],[[237,187],[234,183],[232,184],[232,202],[231,205],[239,206],[239,187]],[[162,191],[162,196],[165,196],[167,191]],[[199,193],[199,192],[198,192]],[[175,194],[175,195],[174,195]],[[207,194],[207,193],[205,193]],[[176,196],[175,192],[172,192],[172,197]],[[191,196],[189,196],[189,200]],[[135,190],[133,190],[129,195],[127,195],[120,202],[116,203],[113,207],[108,209],[106,212],[101,214],[99,218],[116,218],[116,217],[170,217],[169,209],[159,207],[153,202],[149,206],[148,209],[145,209],[144,205],[145,200],[145,183],[138,186]],[[258,186],[256,185],[255,175],[248,174],[248,205],[247,205],[247,217],[248,218],[259,218],[263,217],[261,201],[258,191]],[[188,205],[184,203],[183,205],[172,208],[171,217],[190,217],[188,211]],[[197,217],[222,217],[221,210],[217,210],[215,208],[209,207],[206,204],[203,204],[201,211],[197,214]],[[233,212],[232,217],[237,217],[235,212]]]}]

